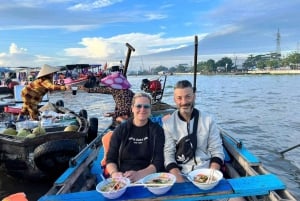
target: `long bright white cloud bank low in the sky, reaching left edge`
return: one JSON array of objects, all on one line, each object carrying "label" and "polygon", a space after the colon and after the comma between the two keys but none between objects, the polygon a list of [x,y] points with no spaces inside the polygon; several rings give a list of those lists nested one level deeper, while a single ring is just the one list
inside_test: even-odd
[{"label": "long bright white cloud bank low in the sky, reaching left edge", "polygon": [[85,37],[78,42],[79,47],[65,48],[63,54],[42,55],[32,54],[26,48],[12,43],[8,53],[0,55],[0,64],[5,66],[41,66],[45,63],[52,65],[66,65],[72,63],[104,63],[106,61],[125,60],[127,47],[130,43],[135,49],[132,57],[141,57],[147,54],[159,54],[164,51],[180,49],[193,42],[194,36],[170,37],[164,33],[144,34],[130,33],[113,37]]}]

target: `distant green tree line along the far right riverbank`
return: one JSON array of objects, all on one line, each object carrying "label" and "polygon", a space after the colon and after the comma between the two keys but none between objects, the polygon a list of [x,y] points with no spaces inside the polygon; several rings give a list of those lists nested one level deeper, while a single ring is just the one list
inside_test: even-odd
[{"label": "distant green tree line along the far right riverbank", "polygon": [[[265,54],[265,55],[249,55],[249,57],[244,61],[242,66],[237,66],[231,58],[223,57],[222,59],[215,61],[209,59],[207,61],[201,61],[197,64],[197,72],[201,73],[226,73],[226,72],[236,72],[236,71],[248,71],[257,69],[277,69],[280,67],[288,67],[290,69],[300,68],[300,53],[292,53],[281,58],[281,55],[276,53]],[[187,64],[179,64],[177,66],[167,68],[165,66],[157,66],[149,71],[139,71],[139,75],[145,74],[158,74],[159,72],[165,73],[187,73],[194,72],[194,66],[189,66]]]}]

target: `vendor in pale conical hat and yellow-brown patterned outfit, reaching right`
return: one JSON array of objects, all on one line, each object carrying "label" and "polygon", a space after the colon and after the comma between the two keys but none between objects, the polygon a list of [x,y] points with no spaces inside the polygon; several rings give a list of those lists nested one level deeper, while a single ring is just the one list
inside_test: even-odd
[{"label": "vendor in pale conical hat and yellow-brown patterned outfit, reaching right", "polygon": [[22,90],[23,106],[18,119],[22,115],[29,115],[30,119],[38,120],[38,105],[46,93],[70,89],[70,86],[53,84],[53,74],[59,70],[59,68],[45,64],[37,75],[37,79],[24,86]]}]

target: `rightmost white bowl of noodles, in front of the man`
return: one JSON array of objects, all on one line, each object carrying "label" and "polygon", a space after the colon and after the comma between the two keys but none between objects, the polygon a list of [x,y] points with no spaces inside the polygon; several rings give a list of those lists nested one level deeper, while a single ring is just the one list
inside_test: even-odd
[{"label": "rightmost white bowl of noodles, in front of the man", "polygon": [[[204,175],[207,178],[212,175],[212,180],[206,180],[205,182],[197,182],[195,181],[196,176],[198,175]],[[202,190],[210,190],[214,188],[220,180],[223,178],[222,172],[219,170],[213,170],[209,168],[203,168],[203,169],[196,169],[188,174],[188,179],[198,188]]]}]

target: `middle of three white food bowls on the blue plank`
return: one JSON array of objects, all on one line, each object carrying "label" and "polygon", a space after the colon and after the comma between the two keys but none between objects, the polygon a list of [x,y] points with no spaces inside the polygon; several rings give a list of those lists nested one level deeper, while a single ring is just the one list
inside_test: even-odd
[{"label": "middle of three white food bowls on the blue plank", "polygon": [[[162,183],[153,181],[154,179],[161,179]],[[168,181],[166,181],[168,180]],[[167,183],[164,183],[166,181]],[[143,178],[143,184],[147,187],[147,189],[155,194],[155,195],[162,195],[168,192],[174,183],[176,182],[176,177],[170,173],[153,173]],[[153,186],[149,184],[154,184]],[[155,186],[157,184],[158,186]],[[166,184],[166,185],[164,185]]]}]

